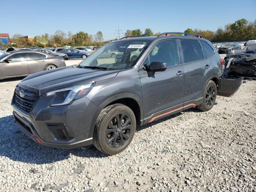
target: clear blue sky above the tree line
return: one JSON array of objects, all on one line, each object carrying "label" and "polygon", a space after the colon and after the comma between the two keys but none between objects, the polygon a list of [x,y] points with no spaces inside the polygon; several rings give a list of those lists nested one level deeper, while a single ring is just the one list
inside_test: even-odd
[{"label": "clear blue sky above the tree line", "polygon": [[[144,32],[184,32],[187,28],[217,30],[245,18],[256,19],[256,0],[11,0],[1,3],[0,33],[54,34],[56,30],[103,33],[139,28]],[[122,35],[121,35],[122,36]]]}]

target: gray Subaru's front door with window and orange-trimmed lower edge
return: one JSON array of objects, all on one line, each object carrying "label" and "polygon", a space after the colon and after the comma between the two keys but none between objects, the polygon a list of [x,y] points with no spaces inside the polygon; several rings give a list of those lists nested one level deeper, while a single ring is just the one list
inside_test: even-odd
[{"label": "gray Subaru's front door with window and orange-trimmed lower edge", "polygon": [[[166,62],[167,69],[149,77],[147,70],[153,61]],[[185,76],[176,40],[158,42],[144,60],[139,73],[145,123],[183,110]]]}]

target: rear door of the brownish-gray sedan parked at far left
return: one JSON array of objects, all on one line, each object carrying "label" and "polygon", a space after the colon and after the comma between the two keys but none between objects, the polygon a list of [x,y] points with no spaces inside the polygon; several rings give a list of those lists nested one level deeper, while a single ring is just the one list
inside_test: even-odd
[{"label": "rear door of the brownish-gray sedan parked at far left", "polygon": [[28,70],[30,74],[43,71],[47,63],[48,59],[45,54],[28,52]]}]

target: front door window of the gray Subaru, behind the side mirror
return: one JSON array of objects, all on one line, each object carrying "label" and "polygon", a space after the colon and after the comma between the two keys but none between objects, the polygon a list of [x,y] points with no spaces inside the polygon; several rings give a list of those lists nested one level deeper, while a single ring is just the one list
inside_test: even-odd
[{"label": "front door window of the gray Subaru, behind the side mirror", "polygon": [[162,41],[154,46],[149,54],[149,62],[162,61],[167,67],[178,65],[178,47],[176,40]]}]

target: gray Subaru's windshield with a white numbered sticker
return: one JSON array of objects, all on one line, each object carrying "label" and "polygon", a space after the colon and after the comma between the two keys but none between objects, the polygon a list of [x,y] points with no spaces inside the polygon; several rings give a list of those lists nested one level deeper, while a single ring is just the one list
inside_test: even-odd
[{"label": "gray Subaru's windshield with a white numbered sticker", "polygon": [[82,61],[81,67],[104,67],[118,70],[132,67],[149,41],[119,41],[108,43]]}]

